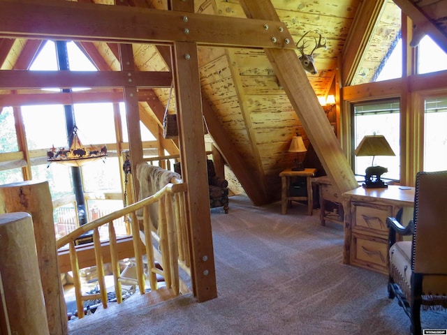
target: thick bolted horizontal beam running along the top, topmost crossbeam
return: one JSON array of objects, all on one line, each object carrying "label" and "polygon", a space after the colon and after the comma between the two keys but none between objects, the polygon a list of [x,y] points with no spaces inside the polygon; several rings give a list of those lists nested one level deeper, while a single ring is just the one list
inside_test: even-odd
[{"label": "thick bolted horizontal beam running along the top, topmost crossbeam", "polygon": [[5,37],[295,49],[279,21],[73,1],[0,0],[0,6],[0,36]]}]

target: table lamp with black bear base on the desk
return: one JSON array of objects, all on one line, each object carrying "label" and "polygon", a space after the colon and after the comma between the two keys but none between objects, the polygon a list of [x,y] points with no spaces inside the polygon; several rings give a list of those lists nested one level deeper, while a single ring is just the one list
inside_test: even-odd
[{"label": "table lamp with black bear base on the desk", "polygon": [[[388,185],[381,180],[381,174],[388,172],[383,166],[374,165],[375,156],[396,156],[390,144],[383,135],[366,135],[356,151],[356,156],[372,156],[372,166],[365,170],[365,188],[386,188]],[[375,177],[375,179],[374,179]]]}]

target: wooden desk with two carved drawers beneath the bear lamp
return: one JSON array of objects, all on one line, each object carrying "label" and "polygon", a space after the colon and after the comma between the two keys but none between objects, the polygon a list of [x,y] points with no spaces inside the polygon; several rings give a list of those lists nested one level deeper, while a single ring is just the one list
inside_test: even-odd
[{"label": "wooden desk with two carved drawers beneath the bear lamp", "polygon": [[359,187],[343,193],[344,264],[388,274],[388,228],[386,218],[401,208],[412,211],[415,188]]}]

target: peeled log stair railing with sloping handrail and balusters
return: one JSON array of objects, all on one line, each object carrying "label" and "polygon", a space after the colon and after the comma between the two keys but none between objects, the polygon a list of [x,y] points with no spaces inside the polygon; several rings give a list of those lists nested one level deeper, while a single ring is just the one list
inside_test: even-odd
[{"label": "peeled log stair railing with sloping handrail and balusters", "polygon": [[[184,200],[186,184],[182,184],[178,179],[171,181],[177,184],[170,183],[149,198],[135,202],[85,225],[81,225],[73,232],[57,240],[58,249],[68,244],[78,318],[84,316],[83,301],[85,300],[101,299],[103,307],[107,308],[108,296],[105,287],[103,255],[101,253],[99,236],[99,228],[103,225],[108,225],[112,274],[118,303],[122,302],[122,281],[129,283],[129,281],[133,280],[135,285],[138,285],[140,294],[145,294],[145,273],[142,262],[142,250],[145,250],[147,256],[147,276],[151,290],[157,290],[156,274],[160,274],[165,279],[166,288],[172,290],[174,295],[178,295],[179,266],[186,269],[186,272],[189,272],[188,269],[190,267],[189,245],[186,235],[186,206]],[[157,229],[154,228],[149,219],[149,205],[155,202],[158,202],[159,209]],[[143,209],[142,218],[138,218],[136,214],[138,209]],[[129,218],[131,221],[133,251],[137,271],[136,280],[133,278],[123,278],[119,269],[117,237],[113,221],[123,216]],[[75,246],[75,239],[78,239],[85,232],[90,231],[93,231],[93,245],[100,292],[97,295],[82,295],[80,263]],[[154,247],[154,239],[158,241],[158,249]],[[144,245],[144,248],[142,248],[142,245]],[[162,269],[156,267],[156,261],[159,262]]]}]

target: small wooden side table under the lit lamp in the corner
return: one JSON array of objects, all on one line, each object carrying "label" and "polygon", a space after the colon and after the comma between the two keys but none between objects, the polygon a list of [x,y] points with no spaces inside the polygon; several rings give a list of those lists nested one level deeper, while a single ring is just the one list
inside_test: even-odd
[{"label": "small wooden side table under the lit lamp in the corner", "polygon": [[[314,208],[314,199],[312,195],[312,177],[314,177],[316,169],[307,168],[302,171],[292,171],[292,169],[286,169],[279,174],[281,177],[281,214],[287,214],[288,204],[292,200],[295,201],[307,201],[307,215],[312,215],[312,209]],[[290,192],[291,177],[306,177],[306,196],[293,196]]]}]

